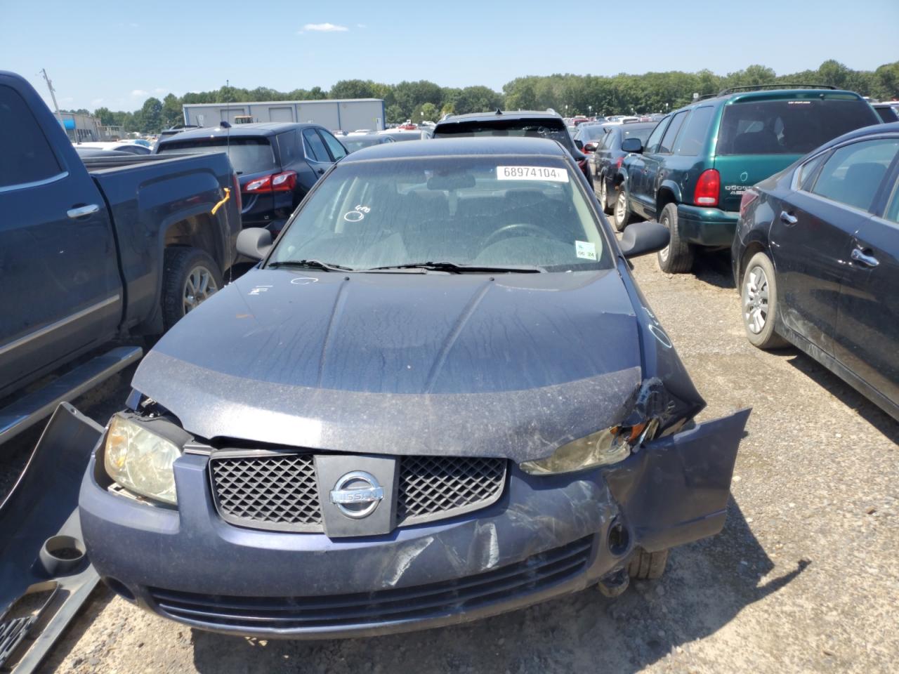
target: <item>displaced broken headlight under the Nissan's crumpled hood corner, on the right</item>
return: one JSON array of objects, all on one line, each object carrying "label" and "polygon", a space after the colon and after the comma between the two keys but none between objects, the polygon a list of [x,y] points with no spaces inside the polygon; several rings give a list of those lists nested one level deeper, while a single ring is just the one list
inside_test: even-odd
[{"label": "displaced broken headlight under the Nissan's crumpled hood corner, on the right", "polygon": [[556,449],[552,456],[524,461],[520,464],[521,470],[532,475],[551,475],[617,464],[628,458],[631,448],[644,439],[647,426],[641,423],[597,430]]}]

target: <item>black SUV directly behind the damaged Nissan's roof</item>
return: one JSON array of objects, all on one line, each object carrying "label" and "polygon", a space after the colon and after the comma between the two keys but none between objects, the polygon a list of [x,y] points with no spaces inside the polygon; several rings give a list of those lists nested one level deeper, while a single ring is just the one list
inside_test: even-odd
[{"label": "black SUV directly behind the damaged Nissan's roof", "polygon": [[565,127],[565,120],[555,112],[498,110],[449,115],[437,122],[432,135],[434,138],[472,136],[523,136],[556,140],[571,153],[583,177],[592,187],[593,179],[587,165],[587,155],[574,146],[574,141]]}]

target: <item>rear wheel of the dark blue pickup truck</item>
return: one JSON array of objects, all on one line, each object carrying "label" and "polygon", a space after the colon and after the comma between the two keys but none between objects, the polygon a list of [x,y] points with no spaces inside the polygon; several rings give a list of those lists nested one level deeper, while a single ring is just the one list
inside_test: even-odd
[{"label": "rear wheel of the dark blue pickup truck", "polygon": [[165,249],[163,324],[165,330],[222,288],[222,272],[209,253],[177,246]]}]

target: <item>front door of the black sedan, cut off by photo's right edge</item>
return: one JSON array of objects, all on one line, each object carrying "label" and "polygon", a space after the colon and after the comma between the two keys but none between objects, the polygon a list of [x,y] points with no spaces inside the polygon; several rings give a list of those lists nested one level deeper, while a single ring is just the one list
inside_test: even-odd
[{"label": "front door of the black sedan, cut off by photo's right edge", "polygon": [[871,147],[865,158],[888,162],[891,152],[874,215],[852,236],[847,251],[834,356],[899,406],[899,138]]}]

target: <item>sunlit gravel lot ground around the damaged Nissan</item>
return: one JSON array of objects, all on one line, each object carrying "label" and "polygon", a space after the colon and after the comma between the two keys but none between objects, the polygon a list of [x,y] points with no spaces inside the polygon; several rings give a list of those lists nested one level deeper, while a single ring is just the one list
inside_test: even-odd
[{"label": "sunlit gravel lot ground around the damaged Nissan", "polygon": [[[675,549],[661,581],[614,600],[586,590],[466,626],[321,642],[191,631],[98,590],[45,670],[895,671],[899,425],[797,351],[753,349],[725,257],[666,277],[651,256],[636,276],[708,400],[701,419],[753,408],[724,532]],[[89,411],[118,406],[125,382]]]}]

